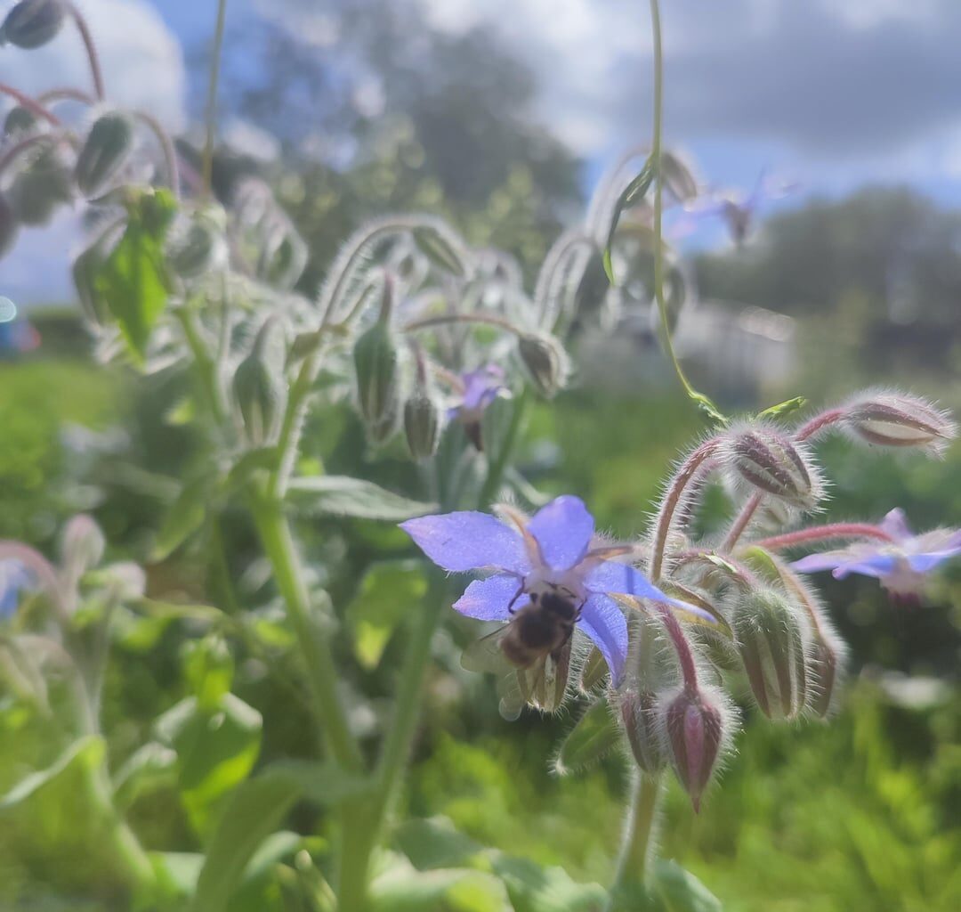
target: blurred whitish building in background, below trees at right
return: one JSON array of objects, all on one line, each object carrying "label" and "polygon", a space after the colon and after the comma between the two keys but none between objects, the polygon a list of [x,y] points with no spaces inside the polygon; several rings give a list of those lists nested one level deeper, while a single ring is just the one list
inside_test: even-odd
[{"label": "blurred whitish building in background, below trees at right", "polygon": [[[777,401],[791,392],[798,366],[793,317],[732,301],[702,300],[684,309],[675,334],[692,381],[735,403]],[[582,382],[624,393],[676,382],[651,319],[622,319],[584,334],[577,352]]]}]

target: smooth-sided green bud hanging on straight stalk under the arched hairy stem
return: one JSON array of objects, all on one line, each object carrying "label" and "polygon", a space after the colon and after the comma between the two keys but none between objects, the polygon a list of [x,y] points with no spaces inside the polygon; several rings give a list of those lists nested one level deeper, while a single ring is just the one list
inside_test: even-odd
[{"label": "smooth-sided green bud hanging on straight stalk under the arched hairy stem", "polygon": [[384,286],[381,316],[354,345],[357,405],[374,443],[388,440],[401,411],[400,350],[390,328],[393,286]]}]

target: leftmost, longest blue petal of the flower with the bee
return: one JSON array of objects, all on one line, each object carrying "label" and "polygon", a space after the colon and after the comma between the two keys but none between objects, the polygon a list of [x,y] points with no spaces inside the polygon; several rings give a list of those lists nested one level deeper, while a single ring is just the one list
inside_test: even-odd
[{"label": "leftmost, longest blue petal of the flower with the bee", "polygon": [[402,522],[401,528],[444,570],[496,567],[513,573],[530,571],[521,534],[489,514],[471,510],[419,517]]}]

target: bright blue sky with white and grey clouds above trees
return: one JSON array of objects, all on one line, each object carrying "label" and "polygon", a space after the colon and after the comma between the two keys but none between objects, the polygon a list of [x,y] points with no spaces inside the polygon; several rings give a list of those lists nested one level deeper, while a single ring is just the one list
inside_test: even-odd
[{"label": "bright blue sky with white and grey clouds above trees", "polygon": [[[340,0],[344,2],[344,0]],[[398,0],[434,29],[492,31],[530,66],[531,116],[583,157],[587,189],[604,165],[650,137],[652,39],[643,0]],[[10,6],[0,0],[0,11]],[[111,95],[171,129],[188,121],[185,55],[203,46],[214,0],[79,0]],[[269,18],[324,53],[331,0],[230,0],[231,24]],[[665,130],[718,188],[750,189],[763,168],[811,194],[910,184],[961,205],[961,2],[667,0]],[[0,49],[0,81],[30,90],[84,84],[82,47]],[[229,125],[251,141],[256,132]],[[261,138],[262,139],[262,138]],[[23,232],[0,261],[0,295],[68,294],[76,216]]]}]

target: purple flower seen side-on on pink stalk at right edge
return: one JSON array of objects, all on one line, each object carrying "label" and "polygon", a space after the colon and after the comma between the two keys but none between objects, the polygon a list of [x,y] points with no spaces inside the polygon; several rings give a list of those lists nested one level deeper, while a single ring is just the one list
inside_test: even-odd
[{"label": "purple flower seen side-on on pink stalk at right edge", "polygon": [[834,551],[809,554],[791,566],[802,573],[831,570],[836,579],[849,573],[874,576],[893,595],[913,597],[924,590],[925,574],[961,554],[961,530],[935,529],[913,535],[902,510],[892,510],[880,523],[890,542],[855,542]]}]

